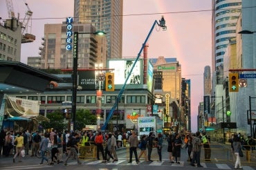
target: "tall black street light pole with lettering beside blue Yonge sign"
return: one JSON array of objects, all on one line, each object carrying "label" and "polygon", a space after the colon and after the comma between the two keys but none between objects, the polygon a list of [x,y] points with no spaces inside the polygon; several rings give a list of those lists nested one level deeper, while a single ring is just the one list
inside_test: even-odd
[{"label": "tall black street light pole with lettering beside blue Yonge sign", "polygon": [[[75,131],[75,111],[76,111],[76,97],[77,97],[77,57],[78,57],[78,35],[80,34],[93,34],[93,35],[104,35],[106,33],[102,31],[97,32],[74,32],[73,37],[73,84],[72,84],[72,123],[71,130]],[[73,129],[72,129],[73,124]]]}]

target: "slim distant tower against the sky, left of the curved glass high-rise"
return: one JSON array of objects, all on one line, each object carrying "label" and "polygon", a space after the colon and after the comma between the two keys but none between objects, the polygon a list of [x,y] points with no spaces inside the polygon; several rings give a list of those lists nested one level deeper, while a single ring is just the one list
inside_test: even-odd
[{"label": "slim distant tower against the sky, left of the curved glass high-rise", "polygon": [[210,74],[210,66],[205,66],[203,72],[203,95],[211,95],[212,92],[212,79]]}]

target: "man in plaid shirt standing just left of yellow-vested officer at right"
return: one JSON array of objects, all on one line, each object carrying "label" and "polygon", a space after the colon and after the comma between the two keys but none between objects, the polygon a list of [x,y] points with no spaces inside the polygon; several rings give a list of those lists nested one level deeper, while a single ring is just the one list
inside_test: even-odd
[{"label": "man in plaid shirt standing just left of yellow-vested officer at right", "polygon": [[193,151],[193,158],[191,165],[195,167],[194,162],[196,161],[197,167],[203,167],[200,164],[200,155],[201,155],[201,138],[200,138],[200,132],[196,131],[196,136],[192,137],[192,151]]}]

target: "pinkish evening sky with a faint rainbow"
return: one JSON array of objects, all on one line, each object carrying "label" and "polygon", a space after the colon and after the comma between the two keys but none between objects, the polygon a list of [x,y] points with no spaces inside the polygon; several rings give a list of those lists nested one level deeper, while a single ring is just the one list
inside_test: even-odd
[{"label": "pinkish evening sky with a faint rainbow", "polygon": [[[21,62],[39,56],[44,24],[62,23],[73,17],[72,0],[27,0],[33,11],[28,33],[33,43],[21,45]],[[21,21],[27,11],[25,1],[12,0]],[[211,0],[124,0],[122,57],[136,57],[154,21],[165,18],[167,30],[155,27],[147,43],[148,57],[174,57],[181,64],[181,75],[191,81],[192,131],[196,131],[199,102],[203,101],[203,70],[211,64]],[[8,19],[6,1],[0,1],[0,17]],[[143,55],[143,54],[142,54]]]}]

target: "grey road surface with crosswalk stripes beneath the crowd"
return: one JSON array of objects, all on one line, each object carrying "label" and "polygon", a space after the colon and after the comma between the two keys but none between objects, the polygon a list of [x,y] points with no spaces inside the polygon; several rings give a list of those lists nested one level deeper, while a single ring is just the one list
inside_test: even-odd
[{"label": "grey road surface with crosswalk stripes beneath the crowd", "polygon": [[[186,150],[181,149],[181,164],[172,164],[170,163],[168,159],[168,153],[167,153],[167,143],[164,142],[163,145],[163,161],[157,162],[158,155],[156,153],[156,149],[152,152],[152,160],[154,162],[145,162],[143,158],[140,158],[140,163],[136,164],[133,156],[134,162],[128,163],[128,149],[118,149],[118,162],[107,162],[103,163],[102,160],[81,160],[82,164],[77,165],[77,162],[75,160],[68,160],[68,166],[64,166],[63,163],[55,164],[55,165],[47,165],[46,162],[44,162],[44,165],[39,165],[39,162],[41,161],[39,158],[36,157],[30,157],[30,155],[26,155],[25,158],[23,158],[22,162],[18,162],[18,159],[15,163],[12,163],[12,156],[6,158],[3,155],[1,155],[0,158],[0,170],[1,169],[73,169],[73,170],[80,170],[80,169],[98,169],[98,170],[126,170],[126,169],[134,169],[136,170],[153,170],[153,169],[160,169],[160,170],[167,170],[167,169],[199,169],[197,167],[192,167],[190,165],[190,162],[187,162],[187,155]],[[140,153],[138,149],[138,154]],[[223,148],[223,145],[219,144],[212,144],[212,156],[210,162],[205,162],[203,160],[203,151],[201,151],[201,165],[203,166],[201,169],[207,168],[208,170],[213,169],[234,169],[234,164],[232,161],[227,161],[226,159],[229,157],[226,150]],[[66,155],[64,155],[64,159],[66,158]],[[225,160],[224,160],[225,158]],[[64,160],[63,159],[63,160]],[[232,158],[231,158],[232,159]],[[243,164],[242,167],[244,170],[255,170],[256,166],[255,164]]]}]

